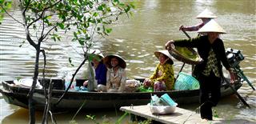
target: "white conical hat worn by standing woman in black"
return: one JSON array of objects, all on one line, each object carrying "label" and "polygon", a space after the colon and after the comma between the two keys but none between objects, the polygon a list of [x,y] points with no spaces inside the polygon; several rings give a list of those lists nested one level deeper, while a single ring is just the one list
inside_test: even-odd
[{"label": "white conical hat worn by standing woman in black", "polygon": [[202,26],[198,33],[208,33],[208,32],[217,32],[219,34],[226,34],[226,31],[222,29],[222,26],[219,26],[214,19],[211,19],[210,22],[207,22],[205,26]]}]

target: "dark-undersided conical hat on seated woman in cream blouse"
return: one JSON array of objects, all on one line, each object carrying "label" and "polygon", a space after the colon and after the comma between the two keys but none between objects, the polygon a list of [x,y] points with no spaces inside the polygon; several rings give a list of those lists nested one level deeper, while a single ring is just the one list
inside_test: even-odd
[{"label": "dark-undersided conical hat on seated woman in cream blouse", "polygon": [[121,66],[123,69],[126,68],[126,61],[118,54],[109,54],[105,58],[103,58],[103,62],[106,65],[106,67],[111,68],[111,58],[116,57],[119,58],[119,66]]}]

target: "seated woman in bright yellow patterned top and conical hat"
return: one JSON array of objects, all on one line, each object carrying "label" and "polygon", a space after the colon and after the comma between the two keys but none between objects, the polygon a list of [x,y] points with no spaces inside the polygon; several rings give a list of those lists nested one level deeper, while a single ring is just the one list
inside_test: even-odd
[{"label": "seated woman in bright yellow patterned top and conical hat", "polygon": [[154,55],[159,59],[154,74],[143,82],[144,87],[154,86],[154,91],[174,90],[174,62],[168,50],[158,50]]}]

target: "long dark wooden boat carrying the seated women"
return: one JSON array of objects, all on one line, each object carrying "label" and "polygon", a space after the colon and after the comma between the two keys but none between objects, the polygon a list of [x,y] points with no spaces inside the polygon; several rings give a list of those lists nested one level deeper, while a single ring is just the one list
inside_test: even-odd
[{"label": "long dark wooden boat carrying the seated women", "polygon": [[[140,79],[142,80],[142,79]],[[46,82],[50,82],[49,79]],[[150,102],[151,94],[169,94],[170,98],[173,98],[178,105],[198,102],[199,90],[171,90],[161,92],[132,92],[132,93],[106,93],[106,92],[80,92],[80,91],[68,91],[65,97],[57,106],[54,104],[58,102],[58,98],[65,92],[64,80],[52,79],[54,88],[52,90],[51,108],[52,110],[78,110],[80,106],[82,109],[96,109],[96,108],[118,108],[120,106],[137,106],[146,105]],[[77,79],[77,85],[84,82],[83,79]],[[234,88],[238,90],[241,86],[241,82],[233,84]],[[2,82],[2,89],[0,92],[6,102],[15,106],[21,106],[28,108],[28,98],[30,88],[16,86],[14,81]],[[221,87],[222,97],[234,94],[234,91],[230,89],[225,82]],[[37,110],[43,110],[45,106],[45,95],[43,89],[35,89],[34,91],[34,105]]]}]

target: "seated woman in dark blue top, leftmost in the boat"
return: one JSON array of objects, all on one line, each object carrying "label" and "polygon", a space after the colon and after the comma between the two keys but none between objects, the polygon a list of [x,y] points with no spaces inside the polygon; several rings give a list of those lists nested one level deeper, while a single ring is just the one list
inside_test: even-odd
[{"label": "seated woman in dark blue top, leftmost in the boat", "polygon": [[[93,60],[91,61],[90,66],[93,66],[94,76],[92,77],[95,77],[94,82],[97,85],[97,90],[106,92],[106,66],[102,61],[102,58],[104,58],[104,55],[100,50],[90,50],[90,51],[91,51],[90,53],[94,57]],[[87,86],[88,81],[89,80],[84,82],[83,86]],[[96,85],[93,86],[92,89],[96,89]]]}]

